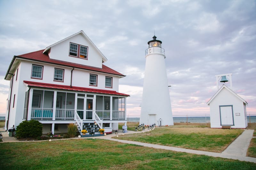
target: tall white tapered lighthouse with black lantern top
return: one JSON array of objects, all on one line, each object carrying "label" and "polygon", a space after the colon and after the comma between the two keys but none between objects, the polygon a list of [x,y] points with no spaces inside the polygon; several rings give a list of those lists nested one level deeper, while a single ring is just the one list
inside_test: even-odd
[{"label": "tall white tapered lighthouse with black lantern top", "polygon": [[140,124],[173,125],[172,107],[162,41],[148,41]]}]

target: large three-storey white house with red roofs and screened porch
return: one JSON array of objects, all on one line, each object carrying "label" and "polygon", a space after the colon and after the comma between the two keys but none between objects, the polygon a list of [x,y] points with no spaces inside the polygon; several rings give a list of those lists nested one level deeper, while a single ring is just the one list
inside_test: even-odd
[{"label": "large three-storey white house with red roofs and screened porch", "polygon": [[[49,47],[13,56],[5,129],[38,120],[43,133],[67,132],[69,123],[88,133],[106,133],[126,124],[127,94],[118,92],[123,74],[105,66],[107,58],[80,31]],[[93,125],[97,123],[97,126]]]}]

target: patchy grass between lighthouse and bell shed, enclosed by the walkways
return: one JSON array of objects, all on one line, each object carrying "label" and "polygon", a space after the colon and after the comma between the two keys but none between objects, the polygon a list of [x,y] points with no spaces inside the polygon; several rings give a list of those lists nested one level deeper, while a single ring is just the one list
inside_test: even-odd
[{"label": "patchy grass between lighthouse and bell shed, enclosed by the walkways", "polygon": [[169,126],[158,127],[151,132],[122,135],[118,139],[220,153],[243,131]]}]

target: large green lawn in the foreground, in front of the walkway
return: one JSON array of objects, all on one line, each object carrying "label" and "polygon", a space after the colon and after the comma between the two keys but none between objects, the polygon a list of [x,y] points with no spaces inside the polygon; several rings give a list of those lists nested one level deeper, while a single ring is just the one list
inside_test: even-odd
[{"label": "large green lawn in the foreground, in front of the walkway", "polygon": [[1,169],[256,169],[256,164],[103,139],[0,143]]}]

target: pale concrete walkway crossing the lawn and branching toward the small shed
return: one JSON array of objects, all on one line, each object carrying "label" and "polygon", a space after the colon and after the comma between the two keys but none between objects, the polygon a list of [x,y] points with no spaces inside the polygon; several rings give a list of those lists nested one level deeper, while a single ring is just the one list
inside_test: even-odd
[{"label": "pale concrete walkway crossing the lawn and branching toward the small shed", "polygon": [[[0,131],[3,131],[3,130],[0,129]],[[136,132],[128,131],[127,133],[124,133],[124,135],[133,134],[133,133],[136,133]],[[138,132],[138,133],[140,133],[140,132]],[[9,137],[8,132],[2,132],[2,134],[3,134],[4,142],[20,142],[15,137]],[[122,134],[123,133],[119,133],[119,136]],[[171,147],[171,146],[147,144],[147,143],[142,143],[142,142],[135,142],[135,141],[128,141],[128,140],[112,138],[114,136],[117,136],[116,134],[108,134],[106,136],[99,136],[99,137],[84,137],[84,138],[73,138],[73,139],[98,138],[98,139],[112,140],[112,141],[126,143],[126,144],[137,144],[140,146],[152,147],[152,148],[156,148],[156,149],[165,149],[165,150],[170,150],[170,151],[175,151],[175,152],[186,152],[186,153],[192,153],[192,154],[198,154],[198,155],[207,155],[207,156],[212,156],[212,157],[236,159],[236,160],[256,163],[256,158],[246,157],[246,152],[247,152],[248,146],[250,144],[250,141],[252,139],[252,134],[253,134],[253,130],[247,130],[247,129],[244,130],[244,132],[239,137],[237,137],[236,140],[233,141],[228,146],[228,148],[225,151],[223,151],[222,153],[197,151],[197,150],[192,150],[192,149],[183,149],[183,148],[176,148],[176,147]],[[56,140],[61,140],[61,139],[56,139]],[[67,140],[67,139],[64,139],[64,140]],[[31,141],[31,142],[33,142],[33,141]]]}]

